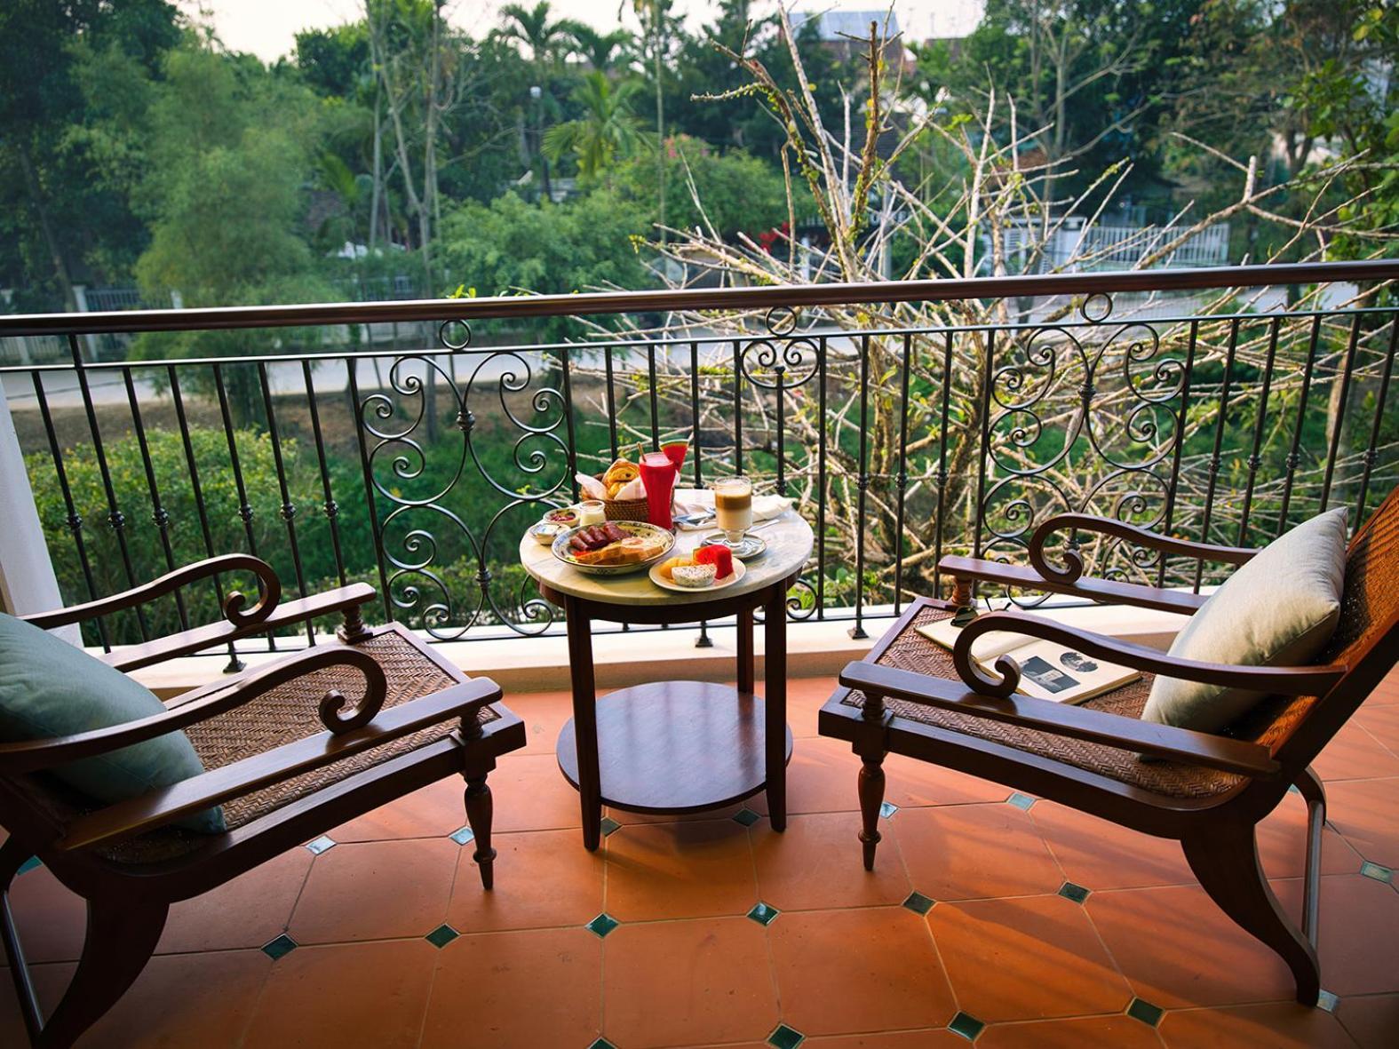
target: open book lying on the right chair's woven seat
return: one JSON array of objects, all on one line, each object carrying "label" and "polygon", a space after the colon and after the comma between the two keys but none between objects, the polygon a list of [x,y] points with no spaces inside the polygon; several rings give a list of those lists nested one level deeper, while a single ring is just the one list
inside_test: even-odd
[{"label": "open book lying on the right chair's woven seat", "polygon": [[[951,620],[939,620],[919,627],[918,632],[944,649],[951,649],[961,629]],[[996,657],[1006,655],[1020,664],[1017,691],[1058,704],[1081,704],[1142,677],[1140,670],[1093,659],[1053,641],[1009,631],[983,634],[971,645],[971,657],[990,673],[996,673]]]}]

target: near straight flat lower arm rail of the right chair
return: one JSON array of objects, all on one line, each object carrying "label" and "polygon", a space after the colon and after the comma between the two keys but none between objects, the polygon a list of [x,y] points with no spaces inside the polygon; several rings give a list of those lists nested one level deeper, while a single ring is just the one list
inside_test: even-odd
[{"label": "near straight flat lower arm rail of the right chair", "polygon": [[894,698],[936,706],[971,718],[1018,725],[1053,736],[1205,765],[1254,779],[1270,779],[1281,768],[1267,748],[1256,743],[1140,722],[1107,711],[1056,704],[1049,699],[1024,695],[989,698],[964,691],[956,681],[881,667],[877,663],[851,663],[841,671],[839,680],[846,688],[858,688],[880,699]]}]

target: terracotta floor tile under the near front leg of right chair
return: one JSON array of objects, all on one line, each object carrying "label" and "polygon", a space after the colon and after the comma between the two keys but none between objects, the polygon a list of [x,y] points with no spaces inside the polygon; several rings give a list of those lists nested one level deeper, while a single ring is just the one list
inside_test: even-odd
[{"label": "terracotta floor tile under the near front leg of right chair", "polygon": [[782,834],[762,820],[753,828],[758,895],[782,911],[901,904],[912,885],[894,843],[894,821],[881,820],[881,863],[860,860],[859,813],[793,815]]}]

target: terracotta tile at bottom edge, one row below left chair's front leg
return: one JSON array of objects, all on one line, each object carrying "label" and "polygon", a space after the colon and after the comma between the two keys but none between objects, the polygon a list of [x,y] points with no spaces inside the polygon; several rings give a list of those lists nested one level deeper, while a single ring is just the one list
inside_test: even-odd
[{"label": "terracotta tile at bottom edge, one row below left chair's front leg", "polygon": [[422,1049],[588,1046],[600,1022],[602,947],[586,929],[453,940],[438,958]]}]

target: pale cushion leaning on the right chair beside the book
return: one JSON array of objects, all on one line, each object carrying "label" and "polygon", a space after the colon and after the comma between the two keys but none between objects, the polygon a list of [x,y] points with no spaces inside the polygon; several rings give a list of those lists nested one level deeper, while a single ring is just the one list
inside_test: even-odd
[{"label": "pale cushion leaning on the right chair beside the book", "polygon": [[[1263,547],[1216,590],[1171,645],[1202,663],[1301,666],[1330,639],[1346,578],[1346,511],[1302,522]],[[1158,677],[1142,719],[1220,732],[1260,692]]]}]

